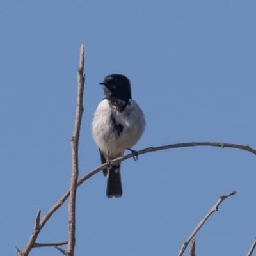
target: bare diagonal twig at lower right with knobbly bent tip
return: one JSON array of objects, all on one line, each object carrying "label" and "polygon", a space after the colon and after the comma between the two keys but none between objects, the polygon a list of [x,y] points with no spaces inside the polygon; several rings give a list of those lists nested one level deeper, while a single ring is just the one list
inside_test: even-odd
[{"label": "bare diagonal twig at lower right with knobbly bent tip", "polygon": [[195,234],[198,232],[198,230],[200,230],[200,228],[202,228],[202,226],[204,225],[205,221],[211,216],[211,214],[213,212],[218,211],[218,207],[219,205],[229,196],[235,195],[236,191],[232,191],[230,192],[228,195],[221,195],[220,199],[218,200],[218,202],[216,202],[216,204],[214,205],[214,207],[212,207],[211,211],[209,211],[205,217],[200,221],[200,223],[197,225],[197,227],[195,228],[195,230],[193,230],[193,232],[191,233],[191,235],[188,237],[188,239],[183,243],[182,248],[180,249],[180,252],[178,254],[178,256],[183,255],[184,251],[186,250],[186,247],[188,246],[188,243],[191,241],[191,239],[195,236]]}]

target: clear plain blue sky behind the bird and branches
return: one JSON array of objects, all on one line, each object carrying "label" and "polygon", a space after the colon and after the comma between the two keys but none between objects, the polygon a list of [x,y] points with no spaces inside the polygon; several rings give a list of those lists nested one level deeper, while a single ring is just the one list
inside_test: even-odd
[{"label": "clear plain blue sky behind the bird and branches", "polygon": [[[0,240],[16,255],[70,183],[79,48],[86,84],[79,172],[100,165],[90,123],[108,74],[131,79],[147,128],[134,149],[217,141],[256,148],[255,1],[1,1]],[[191,147],[122,163],[124,195],[98,173],[77,191],[76,255],[245,255],[256,236],[256,157]],[[38,243],[67,240],[67,203]],[[60,255],[36,248],[30,255]],[[184,255],[188,255],[185,253]]]}]

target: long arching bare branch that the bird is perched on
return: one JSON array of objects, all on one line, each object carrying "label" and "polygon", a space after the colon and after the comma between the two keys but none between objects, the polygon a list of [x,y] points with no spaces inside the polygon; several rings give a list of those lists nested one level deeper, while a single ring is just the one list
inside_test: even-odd
[{"label": "long arching bare branch that the bird is perched on", "polygon": [[[160,150],[166,150],[166,149],[171,149],[171,148],[180,148],[180,147],[195,147],[195,146],[212,146],[212,147],[221,147],[221,148],[225,148],[225,147],[229,147],[229,148],[237,148],[237,149],[241,149],[241,150],[246,150],[248,152],[251,152],[253,154],[256,155],[256,150],[254,150],[253,148],[250,148],[248,145],[237,145],[237,144],[230,144],[230,143],[221,143],[221,142],[190,142],[190,143],[179,143],[179,144],[170,144],[170,145],[164,145],[164,146],[159,146],[159,147],[148,147],[142,150],[138,151],[138,155],[142,155],[142,154],[147,154],[150,152],[156,152],[156,151],[160,151]],[[122,157],[118,157],[114,160],[111,160],[111,163],[118,163],[118,162],[122,162],[125,161],[129,158],[133,157],[132,154],[127,154],[125,156]],[[77,187],[79,187],[81,184],[83,184],[83,182],[87,179],[89,179],[90,177],[92,177],[93,175],[95,175],[96,173],[100,172],[100,170],[106,168],[107,164],[102,164],[99,167],[93,169],[91,172],[86,173],[83,177],[81,177],[81,179],[79,179],[77,181]],[[64,204],[64,202],[67,200],[68,196],[69,196],[70,191],[66,191],[66,193],[61,196],[60,200],[58,200],[58,202],[56,202],[56,204],[54,204],[51,209],[49,209],[48,212],[46,212],[42,218],[42,220],[40,221],[40,227],[38,232],[40,232],[40,230],[44,227],[45,223],[47,223],[47,221],[49,220],[49,218],[51,218],[52,214],[54,214],[54,212],[56,212],[61,205]],[[31,240],[35,241],[36,237],[38,234],[33,233],[26,245],[26,248],[29,248],[29,243]],[[36,236],[36,237],[35,237]],[[33,244],[30,244],[31,248],[33,246]],[[30,249],[31,250],[31,249]],[[29,252],[30,252],[29,250]],[[28,250],[27,250],[28,251]],[[19,252],[18,252],[19,253]],[[22,252],[24,253],[24,252]],[[19,253],[19,255],[21,255]],[[28,253],[24,253],[22,254],[22,256],[27,256]]]}]

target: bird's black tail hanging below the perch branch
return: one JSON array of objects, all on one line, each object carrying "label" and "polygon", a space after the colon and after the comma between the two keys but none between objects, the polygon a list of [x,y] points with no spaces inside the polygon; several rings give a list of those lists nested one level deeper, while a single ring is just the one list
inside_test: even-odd
[{"label": "bird's black tail hanging below the perch branch", "polygon": [[120,164],[112,165],[109,167],[108,173],[107,196],[108,198],[121,197],[122,193]]}]

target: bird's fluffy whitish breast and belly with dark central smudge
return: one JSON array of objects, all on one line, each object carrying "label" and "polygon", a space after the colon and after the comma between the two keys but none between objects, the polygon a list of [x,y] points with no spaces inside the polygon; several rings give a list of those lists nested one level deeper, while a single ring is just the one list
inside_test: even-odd
[{"label": "bird's fluffy whitish breast and belly with dark central smudge", "polygon": [[[113,125],[122,125],[120,134],[115,131]],[[102,152],[111,156],[119,157],[124,154],[125,149],[131,148],[137,143],[145,129],[145,118],[140,107],[134,100],[130,99],[124,111],[119,112],[110,106],[107,99],[100,102],[95,111],[92,121],[92,135],[96,144]]]}]

